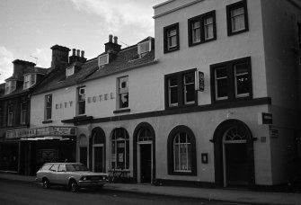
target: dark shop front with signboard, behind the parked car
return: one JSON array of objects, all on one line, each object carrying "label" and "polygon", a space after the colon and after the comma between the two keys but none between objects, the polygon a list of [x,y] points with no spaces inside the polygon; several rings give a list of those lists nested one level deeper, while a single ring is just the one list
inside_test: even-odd
[{"label": "dark shop front with signboard, behind the parked car", "polygon": [[[16,161],[15,165],[11,164],[16,166],[14,170],[19,174],[34,175],[41,165],[49,162],[75,162],[75,127],[50,126],[6,131],[6,140],[12,139],[17,142],[18,148],[14,146],[11,149],[15,150]],[[11,156],[10,160],[13,159]]]}]

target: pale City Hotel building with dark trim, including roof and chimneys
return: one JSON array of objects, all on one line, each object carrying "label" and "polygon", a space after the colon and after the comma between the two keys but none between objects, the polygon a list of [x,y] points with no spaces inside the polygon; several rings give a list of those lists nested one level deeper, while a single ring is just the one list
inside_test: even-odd
[{"label": "pale City Hotel building with dark trim, including roof and chimneys", "polygon": [[155,40],[121,49],[110,36],[89,60],[52,48],[30,127],[61,130],[35,142],[37,163],[69,147],[56,160],[137,183],[300,182],[301,5],[170,0],[154,10]]}]

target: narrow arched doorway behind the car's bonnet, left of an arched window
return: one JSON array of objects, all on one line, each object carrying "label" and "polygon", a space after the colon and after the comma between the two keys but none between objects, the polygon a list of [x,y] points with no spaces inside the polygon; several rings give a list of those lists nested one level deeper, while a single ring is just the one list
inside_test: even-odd
[{"label": "narrow arched doorway behind the car's bonnet, left of an arched window", "polygon": [[105,134],[101,128],[95,128],[93,133],[93,172],[105,172]]}]

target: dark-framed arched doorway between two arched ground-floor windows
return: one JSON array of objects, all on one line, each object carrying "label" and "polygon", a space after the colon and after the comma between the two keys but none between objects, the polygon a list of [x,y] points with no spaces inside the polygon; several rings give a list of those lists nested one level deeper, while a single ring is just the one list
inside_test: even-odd
[{"label": "dark-framed arched doorway between two arched ground-floor windows", "polygon": [[155,130],[141,122],[134,130],[133,174],[137,183],[152,183],[155,179]]}]

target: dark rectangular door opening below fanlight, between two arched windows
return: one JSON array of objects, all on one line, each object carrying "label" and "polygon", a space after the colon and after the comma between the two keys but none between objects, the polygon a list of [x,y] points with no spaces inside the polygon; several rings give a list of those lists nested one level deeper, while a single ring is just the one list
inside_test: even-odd
[{"label": "dark rectangular door opening below fanlight, between two arched windows", "polygon": [[152,181],[152,144],[140,145],[140,177],[141,183]]}]

